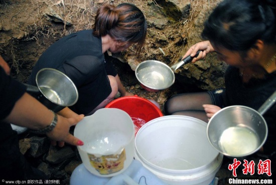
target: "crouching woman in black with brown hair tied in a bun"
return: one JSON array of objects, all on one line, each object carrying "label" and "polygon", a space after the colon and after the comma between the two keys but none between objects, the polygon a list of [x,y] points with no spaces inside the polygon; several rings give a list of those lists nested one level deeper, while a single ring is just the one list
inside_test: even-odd
[{"label": "crouching woman in black with brown hair tied in a bun", "polygon": [[136,6],[103,5],[97,10],[93,30],[70,34],[50,46],[36,63],[28,83],[36,85],[36,74],[42,68],[57,69],[75,83],[79,92],[77,103],[59,113],[93,114],[118,91],[121,96],[132,95],[126,92],[106,52],[121,52],[134,44],[140,52],[146,35],[145,16]]}]

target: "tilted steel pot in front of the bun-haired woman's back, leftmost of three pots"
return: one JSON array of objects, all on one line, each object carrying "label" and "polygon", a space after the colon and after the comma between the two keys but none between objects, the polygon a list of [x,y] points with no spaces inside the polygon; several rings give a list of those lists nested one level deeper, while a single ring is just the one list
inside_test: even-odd
[{"label": "tilted steel pot in front of the bun-haired woman's back, leftmost of three pots", "polygon": [[25,84],[27,92],[54,112],[74,105],[78,100],[78,90],[64,73],[51,68],[41,69],[36,75],[37,86]]}]

